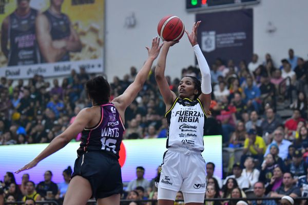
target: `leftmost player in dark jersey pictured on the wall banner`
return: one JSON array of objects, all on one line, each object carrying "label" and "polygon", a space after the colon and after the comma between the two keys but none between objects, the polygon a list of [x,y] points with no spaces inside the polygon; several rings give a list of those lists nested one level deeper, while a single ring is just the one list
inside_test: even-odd
[{"label": "leftmost player in dark jersey pictured on the wall banner", "polygon": [[29,2],[29,0],[18,0],[16,10],[2,23],[1,49],[8,59],[8,66],[41,62],[35,36],[35,18],[38,11],[30,8]]}]

